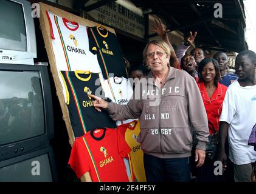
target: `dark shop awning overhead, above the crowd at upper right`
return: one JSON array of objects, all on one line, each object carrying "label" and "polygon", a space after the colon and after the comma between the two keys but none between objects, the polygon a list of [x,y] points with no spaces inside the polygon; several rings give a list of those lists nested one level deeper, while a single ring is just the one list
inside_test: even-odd
[{"label": "dark shop awning overhead, above the crowd at upper right", "polygon": [[[197,31],[196,45],[199,47],[234,52],[247,49],[242,0],[132,0],[132,2],[142,8],[145,15],[157,15],[164,19],[167,28],[171,31],[179,30],[182,33]],[[222,18],[216,18],[221,16],[221,13]],[[147,37],[152,36],[156,35]]]}]

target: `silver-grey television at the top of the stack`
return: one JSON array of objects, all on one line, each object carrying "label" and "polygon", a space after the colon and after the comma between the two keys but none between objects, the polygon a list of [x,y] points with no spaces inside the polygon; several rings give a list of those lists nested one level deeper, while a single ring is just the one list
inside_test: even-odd
[{"label": "silver-grey television at the top of the stack", "polygon": [[33,65],[37,55],[30,2],[0,0],[0,5],[0,63]]}]

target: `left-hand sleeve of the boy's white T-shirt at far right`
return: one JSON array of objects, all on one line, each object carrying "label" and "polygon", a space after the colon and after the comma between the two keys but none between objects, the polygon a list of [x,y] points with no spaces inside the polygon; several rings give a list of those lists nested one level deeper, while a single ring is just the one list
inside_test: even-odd
[{"label": "left-hand sleeve of the boy's white T-shirt at far right", "polygon": [[229,88],[227,89],[227,93],[223,101],[223,108],[220,116],[220,121],[227,122],[228,124],[232,122],[235,113],[237,112],[237,110],[235,109],[234,102],[234,95],[232,93],[232,90],[230,90]]}]

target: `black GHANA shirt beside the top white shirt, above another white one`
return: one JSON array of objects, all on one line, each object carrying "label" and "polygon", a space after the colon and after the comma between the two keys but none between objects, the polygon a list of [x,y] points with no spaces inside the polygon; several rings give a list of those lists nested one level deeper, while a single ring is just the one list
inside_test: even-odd
[{"label": "black GHANA shirt beside the top white shirt, above another white one", "polygon": [[[98,61],[103,78],[108,79],[109,73],[117,77],[127,78],[122,49],[116,35],[102,26],[87,27],[90,48],[97,47]],[[94,52],[94,50],[93,50]],[[113,76],[112,75],[112,76]]]}]

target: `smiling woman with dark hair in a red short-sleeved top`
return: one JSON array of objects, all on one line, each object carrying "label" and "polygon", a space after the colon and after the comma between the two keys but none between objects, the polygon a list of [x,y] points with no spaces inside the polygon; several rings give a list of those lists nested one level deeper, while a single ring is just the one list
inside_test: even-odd
[{"label": "smiling woman with dark hair in a red short-sleeved top", "polygon": [[[223,107],[224,97],[227,87],[219,83],[220,67],[218,61],[212,58],[205,58],[198,65],[198,87],[206,107],[210,135],[214,134],[214,139],[218,139],[220,127],[220,115]],[[204,166],[199,168],[198,181],[220,181],[219,176],[213,174],[215,159],[208,160]]]}]

